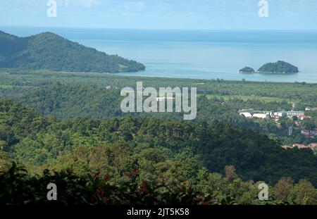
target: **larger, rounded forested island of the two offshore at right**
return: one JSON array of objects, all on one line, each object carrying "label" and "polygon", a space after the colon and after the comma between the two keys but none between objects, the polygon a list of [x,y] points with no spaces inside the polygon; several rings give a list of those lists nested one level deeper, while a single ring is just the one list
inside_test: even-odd
[{"label": "larger, rounded forested island of the two offshore at right", "polygon": [[290,74],[290,73],[299,73],[299,70],[296,66],[287,63],[285,61],[278,61],[276,63],[266,63],[256,71],[256,73],[271,73],[271,74]]}]

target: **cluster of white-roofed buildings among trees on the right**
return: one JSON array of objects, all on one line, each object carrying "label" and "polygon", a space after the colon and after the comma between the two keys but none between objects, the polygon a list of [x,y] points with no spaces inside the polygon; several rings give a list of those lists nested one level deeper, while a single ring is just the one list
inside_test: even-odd
[{"label": "cluster of white-roofed buildings among trees on the right", "polygon": [[306,118],[309,118],[308,115],[305,115],[304,111],[280,111],[280,112],[259,112],[254,111],[253,108],[249,109],[242,109],[239,111],[240,115],[244,116],[245,118],[273,118],[275,120],[278,120],[279,118],[293,118],[296,116],[299,120],[304,120]]}]

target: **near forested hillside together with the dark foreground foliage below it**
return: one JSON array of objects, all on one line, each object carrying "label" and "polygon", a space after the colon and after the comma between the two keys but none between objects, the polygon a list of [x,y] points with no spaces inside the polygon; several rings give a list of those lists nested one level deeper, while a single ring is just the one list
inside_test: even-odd
[{"label": "near forested hillside together with the dark foreground foliage below it", "polygon": [[[221,200],[225,204],[256,204],[260,181],[276,184],[272,189],[278,195],[272,193],[271,201],[316,204],[316,189],[310,182],[317,184],[317,158],[312,151],[285,151],[263,134],[228,123],[209,125],[131,115],[109,120],[77,118],[58,122],[6,100],[0,101],[0,112],[0,163],[5,171],[0,174],[0,182],[1,187],[15,187],[5,189],[7,192],[0,196],[2,202],[28,199],[32,203],[43,202],[44,198],[35,199],[43,185],[39,186],[42,190],[22,196],[18,188],[25,184],[36,187],[56,179],[63,187],[73,189],[63,192],[65,200],[61,199],[72,204],[84,203],[85,195],[93,196],[97,186],[108,188],[105,196],[120,196],[120,199],[109,199],[109,204],[160,203],[155,197],[161,193],[168,203],[177,200],[184,203],[175,197],[184,194],[189,204],[204,201],[217,204]],[[25,175],[14,165],[11,168],[11,161],[25,165],[33,176]],[[34,175],[44,169],[48,170],[42,178]],[[292,177],[294,181],[282,177]],[[89,186],[84,187],[85,183]],[[285,183],[290,194],[282,194],[278,189]],[[149,189],[149,199],[137,193],[142,185],[143,189]],[[154,191],[158,186],[167,190]],[[129,188],[135,188],[135,192],[130,194]],[[188,194],[189,188],[199,191],[194,196],[197,199]],[[311,193],[306,194],[305,189]],[[77,202],[71,196],[75,191],[82,194]],[[99,198],[94,198],[93,204],[105,201]]]}]

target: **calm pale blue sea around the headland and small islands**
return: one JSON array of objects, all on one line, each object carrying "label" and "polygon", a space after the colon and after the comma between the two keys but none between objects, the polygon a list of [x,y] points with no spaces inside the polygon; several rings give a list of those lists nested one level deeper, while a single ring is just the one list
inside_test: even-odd
[{"label": "calm pale blue sea around the headland and small islands", "polygon": [[[317,83],[317,31],[106,30],[0,27],[25,37],[51,31],[107,54],[139,61],[147,70],[119,75]],[[244,66],[287,61],[294,75],[240,74]]]}]

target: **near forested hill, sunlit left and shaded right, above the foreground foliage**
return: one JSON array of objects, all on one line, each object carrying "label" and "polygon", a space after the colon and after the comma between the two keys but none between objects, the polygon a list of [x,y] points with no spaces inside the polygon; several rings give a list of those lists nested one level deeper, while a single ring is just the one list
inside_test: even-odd
[{"label": "near forested hill, sunlit left and shaded right, above the foreground foliage", "polygon": [[163,180],[173,187],[192,181],[200,168],[223,173],[226,165],[234,165],[244,180],[275,184],[280,177],[292,177],[317,185],[317,158],[311,150],[285,151],[263,134],[228,123],[133,116],[58,122],[0,99],[0,144],[0,163],[8,157],[31,170],[102,170],[118,182],[126,171],[137,169],[147,182]]}]

